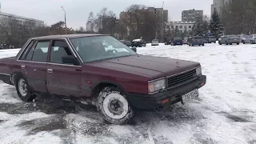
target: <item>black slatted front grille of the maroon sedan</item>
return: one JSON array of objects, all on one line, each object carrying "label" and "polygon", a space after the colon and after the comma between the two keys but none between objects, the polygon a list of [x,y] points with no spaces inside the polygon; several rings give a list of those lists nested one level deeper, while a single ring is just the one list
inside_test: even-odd
[{"label": "black slatted front grille of the maroon sedan", "polygon": [[170,76],[167,78],[167,86],[168,87],[174,87],[178,86],[182,83],[189,82],[190,80],[193,80],[197,76],[197,71],[190,70],[182,74],[177,74],[174,76]]}]

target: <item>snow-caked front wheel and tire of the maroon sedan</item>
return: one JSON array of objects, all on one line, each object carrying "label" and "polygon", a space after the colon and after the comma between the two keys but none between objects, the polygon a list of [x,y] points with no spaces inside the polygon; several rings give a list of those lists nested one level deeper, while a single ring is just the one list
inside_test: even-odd
[{"label": "snow-caked front wheel and tire of the maroon sedan", "polygon": [[113,86],[105,87],[98,94],[96,106],[102,118],[112,124],[122,125],[134,117],[134,110],[126,97]]}]

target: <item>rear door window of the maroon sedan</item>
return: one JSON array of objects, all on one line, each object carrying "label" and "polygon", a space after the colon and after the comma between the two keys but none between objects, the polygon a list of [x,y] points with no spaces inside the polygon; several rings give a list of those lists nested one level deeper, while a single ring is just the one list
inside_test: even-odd
[{"label": "rear door window of the maroon sedan", "polygon": [[36,46],[33,46],[26,55],[26,60],[34,62],[46,62],[49,45],[50,41],[38,41]]}]

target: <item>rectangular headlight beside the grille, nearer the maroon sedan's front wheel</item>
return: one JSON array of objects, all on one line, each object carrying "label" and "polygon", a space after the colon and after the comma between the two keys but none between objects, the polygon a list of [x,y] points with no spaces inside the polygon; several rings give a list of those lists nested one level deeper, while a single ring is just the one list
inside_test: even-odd
[{"label": "rectangular headlight beside the grille, nearer the maroon sedan's front wheel", "polygon": [[148,83],[148,90],[150,94],[165,88],[166,88],[166,78],[162,78],[156,81],[151,81]]}]

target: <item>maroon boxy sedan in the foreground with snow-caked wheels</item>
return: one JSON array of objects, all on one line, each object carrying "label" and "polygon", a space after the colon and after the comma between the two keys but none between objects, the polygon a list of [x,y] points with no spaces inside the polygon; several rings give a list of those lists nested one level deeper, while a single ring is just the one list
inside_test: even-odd
[{"label": "maroon boxy sedan in the foreground with snow-caked wheels", "polygon": [[46,94],[75,99],[114,124],[136,109],[189,102],[206,84],[198,62],[139,55],[101,34],[30,38],[16,57],[0,59],[0,79],[24,102]]}]

